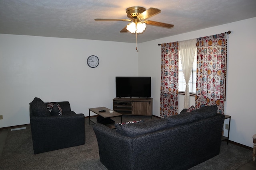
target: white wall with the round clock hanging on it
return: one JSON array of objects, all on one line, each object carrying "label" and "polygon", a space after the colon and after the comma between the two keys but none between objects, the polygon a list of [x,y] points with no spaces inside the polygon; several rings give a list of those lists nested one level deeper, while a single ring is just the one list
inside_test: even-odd
[{"label": "white wall with the round clock hanging on it", "polygon": [[[30,123],[29,103],[69,101],[76,113],[112,108],[115,76],[138,76],[133,43],[0,34],[0,127]],[[86,60],[96,55],[100,64]]]}]

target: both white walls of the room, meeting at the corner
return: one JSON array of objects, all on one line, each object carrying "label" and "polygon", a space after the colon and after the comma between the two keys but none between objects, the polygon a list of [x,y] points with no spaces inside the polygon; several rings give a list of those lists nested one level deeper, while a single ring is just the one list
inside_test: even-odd
[{"label": "both white walls of the room, meeting at the corner", "polygon": [[[112,108],[115,76],[151,76],[153,114],[160,116],[161,47],[158,43],[183,41],[232,31],[228,41],[225,113],[231,115],[230,140],[252,147],[256,133],[256,18],[192,31],[154,41],[134,43],[62,39],[0,34],[1,127],[29,121],[29,102],[69,101],[76,113],[88,108]],[[170,29],[172,31],[172,29]],[[97,68],[86,59],[96,55]],[[179,99],[179,111],[183,109]],[[193,101],[193,99],[190,99]],[[190,103],[193,105],[194,103]]]}]

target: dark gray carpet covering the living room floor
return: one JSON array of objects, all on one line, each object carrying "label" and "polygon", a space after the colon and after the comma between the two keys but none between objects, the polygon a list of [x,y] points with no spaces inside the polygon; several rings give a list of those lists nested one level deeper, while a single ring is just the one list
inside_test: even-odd
[{"label": "dark gray carpet covering the living room floor", "polygon": [[[120,118],[113,118],[116,122]],[[123,116],[123,121],[150,119],[150,117]],[[152,117],[152,119],[157,119]],[[99,160],[98,143],[88,118],[85,119],[86,144],[66,149],[34,154],[30,125],[11,131],[0,156],[0,170],[106,170]],[[252,150],[222,141],[220,154],[190,170],[236,170],[252,160]]]}]

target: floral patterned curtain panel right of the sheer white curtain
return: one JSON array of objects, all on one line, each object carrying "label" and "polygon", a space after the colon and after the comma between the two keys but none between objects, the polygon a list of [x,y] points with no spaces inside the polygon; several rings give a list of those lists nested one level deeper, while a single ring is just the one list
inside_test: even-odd
[{"label": "floral patterned curtain panel right of the sheer white curtain", "polygon": [[196,108],[217,105],[224,113],[226,44],[226,33],[197,39]]}]

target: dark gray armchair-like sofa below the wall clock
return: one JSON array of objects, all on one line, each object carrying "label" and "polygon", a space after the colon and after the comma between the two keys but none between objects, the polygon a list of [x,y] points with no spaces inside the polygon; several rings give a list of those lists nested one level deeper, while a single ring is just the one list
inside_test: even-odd
[{"label": "dark gray armchair-like sofa below the wall clock", "polygon": [[85,144],[84,114],[71,111],[69,102],[59,104],[62,115],[51,115],[47,103],[30,103],[30,125],[34,154]]}]

